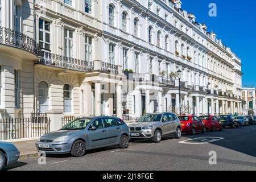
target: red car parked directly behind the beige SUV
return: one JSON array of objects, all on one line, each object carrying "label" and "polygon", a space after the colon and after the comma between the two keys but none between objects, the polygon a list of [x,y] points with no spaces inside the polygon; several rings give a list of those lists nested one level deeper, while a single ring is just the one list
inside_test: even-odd
[{"label": "red car parked directly behind the beige SUV", "polygon": [[207,129],[196,115],[183,115],[179,117],[182,132],[195,135],[197,132],[206,133]]}]

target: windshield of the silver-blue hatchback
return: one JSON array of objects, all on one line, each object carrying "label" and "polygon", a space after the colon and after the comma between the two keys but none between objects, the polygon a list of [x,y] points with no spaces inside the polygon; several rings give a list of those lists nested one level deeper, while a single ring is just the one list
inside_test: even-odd
[{"label": "windshield of the silver-blue hatchback", "polygon": [[61,130],[84,130],[91,120],[92,118],[75,119],[62,127]]}]

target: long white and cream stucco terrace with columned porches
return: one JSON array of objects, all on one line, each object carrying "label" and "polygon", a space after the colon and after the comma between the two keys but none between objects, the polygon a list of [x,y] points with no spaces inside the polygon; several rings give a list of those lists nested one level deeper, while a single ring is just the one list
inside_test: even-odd
[{"label": "long white and cream stucco terrace with columned porches", "polygon": [[179,0],[0,0],[1,118],[242,114],[241,65]]}]

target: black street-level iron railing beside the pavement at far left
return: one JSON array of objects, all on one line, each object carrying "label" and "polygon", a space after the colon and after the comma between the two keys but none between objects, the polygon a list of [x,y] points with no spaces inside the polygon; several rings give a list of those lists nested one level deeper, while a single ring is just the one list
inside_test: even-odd
[{"label": "black street-level iron railing beside the pavement at far left", "polygon": [[49,133],[49,123],[47,117],[0,119],[0,140],[41,137]]}]

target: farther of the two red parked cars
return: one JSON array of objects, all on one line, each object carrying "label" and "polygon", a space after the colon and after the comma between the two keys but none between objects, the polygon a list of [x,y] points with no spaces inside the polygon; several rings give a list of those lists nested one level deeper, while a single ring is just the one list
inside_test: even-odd
[{"label": "farther of the two red parked cars", "polygon": [[214,115],[200,116],[199,119],[201,119],[202,123],[204,124],[208,131],[223,130],[221,122],[218,121],[218,118]]}]

